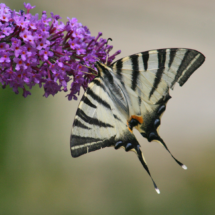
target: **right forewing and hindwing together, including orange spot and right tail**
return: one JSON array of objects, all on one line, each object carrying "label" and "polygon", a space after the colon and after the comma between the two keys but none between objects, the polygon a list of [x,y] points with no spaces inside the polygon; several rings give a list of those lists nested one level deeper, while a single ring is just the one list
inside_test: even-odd
[{"label": "right forewing and hindwing together, including orange spot and right tail", "polygon": [[[130,101],[130,127],[138,129],[148,141],[158,141],[169,151],[158,133],[160,118],[171,98],[169,88],[173,89],[176,82],[182,86],[204,60],[204,55],[196,50],[174,48],[142,52],[113,63],[111,68]],[[186,168],[178,160],[176,162]]]}]

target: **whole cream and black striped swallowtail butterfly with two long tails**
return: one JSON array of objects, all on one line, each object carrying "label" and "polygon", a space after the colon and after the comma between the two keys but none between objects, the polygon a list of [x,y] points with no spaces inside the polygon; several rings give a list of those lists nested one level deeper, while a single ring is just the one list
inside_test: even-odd
[{"label": "whole cream and black striped swallowtail butterfly with two long tails", "polygon": [[109,146],[133,151],[160,193],[133,128],[149,142],[160,143],[186,169],[169,151],[158,130],[171,98],[169,89],[176,82],[182,86],[204,60],[196,50],[167,48],[124,57],[110,66],[96,62],[98,75],[84,93],[74,119],[72,157]]}]

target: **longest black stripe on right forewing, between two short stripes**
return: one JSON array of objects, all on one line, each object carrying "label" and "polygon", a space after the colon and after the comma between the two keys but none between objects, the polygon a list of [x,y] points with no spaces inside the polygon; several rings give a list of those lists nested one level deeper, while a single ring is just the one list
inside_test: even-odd
[{"label": "longest black stripe on right forewing, between two short stripes", "polygon": [[150,94],[149,94],[149,99],[153,95],[154,91],[158,88],[158,85],[159,85],[161,78],[162,78],[162,74],[163,74],[164,69],[165,69],[166,50],[165,49],[158,50],[157,55],[158,55],[158,70],[157,70],[157,73],[156,73],[156,76],[154,79],[153,87],[152,87]]}]

